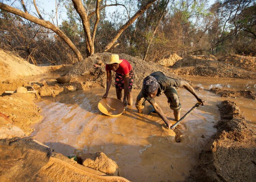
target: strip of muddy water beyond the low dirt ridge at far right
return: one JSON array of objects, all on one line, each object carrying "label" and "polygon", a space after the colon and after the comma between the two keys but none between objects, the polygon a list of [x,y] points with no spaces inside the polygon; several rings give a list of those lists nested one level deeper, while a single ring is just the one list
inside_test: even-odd
[{"label": "strip of muddy water beyond the low dirt ridge at far right", "polygon": [[238,78],[213,78],[204,76],[182,76],[203,89],[218,87],[224,90],[252,90],[256,91],[256,80]]}]

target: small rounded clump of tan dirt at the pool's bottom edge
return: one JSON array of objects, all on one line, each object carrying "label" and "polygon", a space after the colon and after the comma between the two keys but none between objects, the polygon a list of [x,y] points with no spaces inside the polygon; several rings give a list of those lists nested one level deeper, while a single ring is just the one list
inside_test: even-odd
[{"label": "small rounded clump of tan dirt at the pool's bottom edge", "polygon": [[84,160],[83,165],[104,172],[110,176],[120,176],[118,165],[102,152],[91,154],[90,158]]}]

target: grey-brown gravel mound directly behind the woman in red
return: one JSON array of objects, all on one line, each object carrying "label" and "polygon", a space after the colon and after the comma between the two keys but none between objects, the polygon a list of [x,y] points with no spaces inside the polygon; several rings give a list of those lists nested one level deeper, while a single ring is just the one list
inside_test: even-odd
[{"label": "grey-brown gravel mound directly behind the woman in red", "polygon": [[[94,54],[83,61],[77,62],[67,75],[80,76],[83,80],[93,81],[104,87],[106,84],[105,62],[109,59],[110,55],[111,53]],[[134,89],[141,89],[143,79],[155,71],[161,71],[167,76],[184,80],[184,78],[176,76],[175,74],[169,72],[166,68],[159,66],[157,63],[144,61],[127,54],[119,54],[119,57],[122,59],[127,59],[133,67],[135,73],[135,81],[133,85]],[[100,62],[103,62],[103,64],[97,64]],[[115,74],[112,74],[113,77],[114,75]],[[112,79],[112,83],[114,83],[114,79]]]}]

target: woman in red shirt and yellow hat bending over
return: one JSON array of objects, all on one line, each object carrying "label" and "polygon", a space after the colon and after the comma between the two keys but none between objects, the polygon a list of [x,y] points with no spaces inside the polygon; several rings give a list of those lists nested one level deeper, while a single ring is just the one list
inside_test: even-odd
[{"label": "woman in red shirt and yellow hat bending over", "polygon": [[[117,99],[121,101],[122,99],[122,90],[124,89],[124,106],[132,105],[132,84],[134,79],[133,69],[131,64],[125,59],[119,59],[117,54],[112,54],[109,58],[109,61],[106,62],[106,93],[102,98],[108,97],[109,89],[112,81],[112,73],[111,70],[116,73],[115,76],[115,86],[116,86],[116,96]],[[127,100],[126,100],[127,98]]]}]

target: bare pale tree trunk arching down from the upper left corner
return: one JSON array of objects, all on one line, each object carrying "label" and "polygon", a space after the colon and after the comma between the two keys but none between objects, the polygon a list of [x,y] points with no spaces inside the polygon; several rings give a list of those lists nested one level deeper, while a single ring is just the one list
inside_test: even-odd
[{"label": "bare pale tree trunk arching down from the upper left corner", "polygon": [[72,49],[72,51],[76,54],[77,56],[77,59],[79,61],[82,61],[83,60],[83,57],[80,53],[80,51],[75,47],[75,45],[73,44],[73,42],[68,38],[68,36],[66,34],[64,34],[59,28],[57,28],[54,24],[52,24],[51,22],[49,21],[45,21],[45,20],[41,20],[39,18],[36,18],[28,13],[24,13],[23,11],[20,11],[14,7],[11,7],[11,6],[8,6],[4,3],[0,3],[0,9],[4,10],[4,11],[7,11],[7,12],[10,12],[10,13],[13,13],[15,15],[18,15],[22,18],[25,18],[29,21],[32,21],[36,24],[39,24],[47,29],[50,29],[52,31],[54,31],[57,35],[60,36],[60,38],[62,40],[64,40],[68,46]]}]

